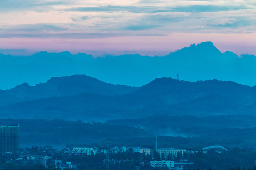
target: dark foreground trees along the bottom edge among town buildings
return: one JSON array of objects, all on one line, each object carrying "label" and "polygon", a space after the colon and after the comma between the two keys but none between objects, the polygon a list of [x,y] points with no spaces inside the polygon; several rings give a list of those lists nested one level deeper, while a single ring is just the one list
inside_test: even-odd
[{"label": "dark foreground trees along the bottom edge among town buildings", "polygon": [[[86,156],[69,155],[64,150],[57,152],[46,162],[47,168],[35,164],[33,161],[7,161],[12,158],[12,155],[0,155],[0,169],[3,170],[57,170],[53,160],[71,161],[72,164],[77,164],[78,170],[105,170],[106,169],[106,154],[97,153]],[[193,160],[194,164],[183,166],[183,170],[256,170],[254,158],[256,151],[247,151],[246,149],[233,148],[221,153],[214,150],[203,153],[202,151],[185,154],[177,154],[176,158],[171,159],[180,161],[181,159]],[[171,158],[171,157],[170,157]],[[109,170],[135,170],[140,166],[141,170],[165,170],[165,168],[150,167],[151,160],[169,159],[164,158],[161,153],[154,153],[154,158],[151,155],[144,153],[133,152],[132,149],[126,152],[117,152],[109,154]],[[144,165],[141,164],[144,162]]]}]

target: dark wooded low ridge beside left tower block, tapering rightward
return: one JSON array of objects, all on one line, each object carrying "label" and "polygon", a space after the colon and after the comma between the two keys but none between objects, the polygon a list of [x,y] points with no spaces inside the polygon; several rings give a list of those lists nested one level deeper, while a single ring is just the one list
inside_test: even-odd
[{"label": "dark wooded low ridge beside left tower block, tapering rightward", "polygon": [[106,144],[107,138],[122,141],[126,138],[146,136],[146,132],[141,128],[108,123],[85,123],[81,120],[2,119],[1,123],[20,125],[21,147],[50,145],[62,149],[67,144]]}]

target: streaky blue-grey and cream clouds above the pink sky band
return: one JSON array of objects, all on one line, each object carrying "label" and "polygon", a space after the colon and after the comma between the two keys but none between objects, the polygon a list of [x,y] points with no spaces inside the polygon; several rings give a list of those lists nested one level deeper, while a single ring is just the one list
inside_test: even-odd
[{"label": "streaky blue-grey and cream clouds above the pink sky band", "polygon": [[[35,38],[40,41],[65,39],[65,42],[73,42],[71,39],[111,37],[119,37],[119,42],[126,42],[129,36],[142,38],[146,42],[146,37],[155,41],[155,36],[167,37],[174,33],[189,33],[191,36],[212,34],[213,37],[213,34],[254,34],[255,30],[254,0],[0,1],[0,42],[30,38],[32,44]],[[51,40],[48,43],[56,48]],[[230,41],[229,45],[232,46],[232,43]],[[183,46],[187,44],[184,42]],[[31,46],[27,48],[31,49]],[[82,45],[80,47],[82,49]],[[0,45],[0,48],[18,47]],[[70,48],[75,48],[75,45],[70,45]]]}]

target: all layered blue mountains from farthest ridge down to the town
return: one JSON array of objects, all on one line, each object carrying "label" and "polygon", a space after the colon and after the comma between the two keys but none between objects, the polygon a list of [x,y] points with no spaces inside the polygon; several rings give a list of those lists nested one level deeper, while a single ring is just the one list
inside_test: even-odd
[{"label": "all layered blue mountains from farthest ridge down to the town", "polygon": [[255,64],[212,42],[163,57],[0,54],[0,117],[20,124],[24,146],[153,146],[158,134],[166,147],[255,147]]}]

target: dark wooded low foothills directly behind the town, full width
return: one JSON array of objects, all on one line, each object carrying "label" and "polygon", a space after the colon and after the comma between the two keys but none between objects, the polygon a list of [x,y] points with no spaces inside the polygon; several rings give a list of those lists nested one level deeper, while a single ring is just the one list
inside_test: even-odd
[{"label": "dark wooded low foothills directly behind the town, full width", "polygon": [[[20,147],[50,145],[54,148],[63,149],[67,145],[81,147],[104,146],[106,145],[106,139],[109,139],[111,146],[147,146],[154,148],[156,144],[155,135],[158,133],[156,131],[152,132],[150,129],[148,130],[148,127],[151,125],[152,128],[163,132],[158,137],[159,148],[174,147],[200,150],[210,145],[222,145],[225,148],[237,146],[241,148],[256,147],[255,136],[252,135],[256,133],[256,127],[226,128],[218,127],[219,123],[215,123],[216,126],[210,127],[210,120],[207,122],[209,126],[203,126],[203,124],[201,126],[197,124],[197,121],[193,121],[200,120],[200,122],[203,122],[206,119],[212,119],[212,122],[215,122],[217,118],[220,118],[220,121],[223,121],[222,123],[225,124],[229,119],[232,119],[232,126],[235,126],[235,122],[241,116],[190,117],[192,121],[187,124],[187,127],[185,126],[185,123],[188,121],[186,117],[166,117],[167,120],[172,118],[175,121],[177,120],[176,124],[170,121],[169,125],[167,121],[161,121],[164,118],[164,116],[160,116],[158,119],[155,118],[155,123],[153,120],[151,122],[151,120],[147,121],[145,118],[145,121],[139,121],[145,122],[145,124],[138,124],[138,127],[122,124],[123,122],[119,122],[120,124],[85,123],[81,120],[66,121],[61,119],[2,119],[1,123],[2,125],[20,124]],[[178,119],[180,120],[178,121]],[[249,117],[244,116],[243,119],[249,119]],[[183,123],[182,120],[184,120]],[[254,117],[252,117],[252,120],[255,120]],[[248,126],[250,126],[250,121],[248,120],[247,122]],[[148,125],[146,126],[146,124]],[[139,128],[140,125],[144,129]],[[197,131],[197,135],[193,137],[177,136],[174,127],[180,132],[179,134],[185,134],[187,129],[188,132],[191,132],[190,134],[196,134]],[[168,133],[164,134],[164,131],[168,131]]]}]

